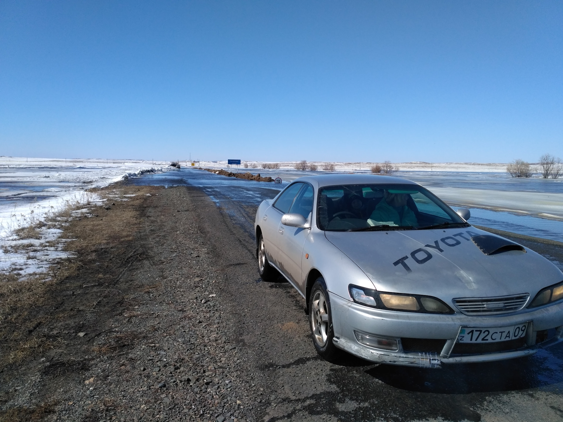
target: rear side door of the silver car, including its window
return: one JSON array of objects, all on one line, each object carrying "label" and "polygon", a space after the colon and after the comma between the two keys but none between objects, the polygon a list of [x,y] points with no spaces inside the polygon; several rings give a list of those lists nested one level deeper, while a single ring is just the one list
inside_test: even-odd
[{"label": "rear side door of the silver car, including its window", "polygon": [[264,246],[266,247],[267,256],[269,261],[278,268],[280,268],[279,244],[284,231],[282,229],[280,234],[280,222],[282,221],[283,214],[289,212],[289,208],[291,208],[297,192],[301,190],[303,185],[304,183],[297,182],[285,188],[278,199],[276,199],[275,203],[266,210],[266,213],[262,217],[262,236],[264,237]]}]

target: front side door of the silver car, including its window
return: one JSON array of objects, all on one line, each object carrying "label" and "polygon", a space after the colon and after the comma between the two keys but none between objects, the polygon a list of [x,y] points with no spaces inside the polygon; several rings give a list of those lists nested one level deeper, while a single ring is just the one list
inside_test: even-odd
[{"label": "front side door of the silver car, including its window", "polygon": [[[305,218],[309,218],[313,210],[313,188],[308,183],[303,183],[301,190],[297,194],[289,213],[301,214]],[[303,290],[301,277],[301,260],[303,259],[303,245],[311,230],[302,227],[284,226],[283,235],[280,235],[279,242],[279,260],[280,268],[283,267],[285,275],[294,283],[294,285]]]}]

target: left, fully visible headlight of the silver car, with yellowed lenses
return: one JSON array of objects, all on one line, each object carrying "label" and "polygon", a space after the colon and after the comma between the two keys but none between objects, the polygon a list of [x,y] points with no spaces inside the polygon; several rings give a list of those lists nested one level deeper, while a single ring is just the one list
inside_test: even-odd
[{"label": "left, fully visible headlight of the silver car, with yellowed lenses", "polygon": [[[387,293],[366,289],[353,284],[348,286],[350,297],[354,302],[365,306],[389,311],[422,312],[422,313],[455,313],[452,308],[438,298],[418,294]],[[563,298],[563,284],[561,286]]]}]

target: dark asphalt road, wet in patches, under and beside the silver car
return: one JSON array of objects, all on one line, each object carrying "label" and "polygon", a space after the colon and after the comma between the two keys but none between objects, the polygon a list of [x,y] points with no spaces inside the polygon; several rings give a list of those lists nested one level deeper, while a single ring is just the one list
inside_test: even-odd
[{"label": "dark asphalt road, wet in patches, under and beside the silver car", "polygon": [[[528,358],[434,370],[377,365],[348,355],[336,364],[319,358],[305,300],[281,278],[258,277],[252,225],[261,198],[230,199],[245,183],[258,182],[226,187],[217,179],[212,186],[196,179],[173,184],[185,186],[199,230],[225,273],[240,352],[249,375],[261,379],[267,393],[263,420],[562,419],[561,343]],[[258,188],[260,195],[274,196],[275,186],[267,186]],[[543,246],[538,252],[561,255],[561,246]]]}]

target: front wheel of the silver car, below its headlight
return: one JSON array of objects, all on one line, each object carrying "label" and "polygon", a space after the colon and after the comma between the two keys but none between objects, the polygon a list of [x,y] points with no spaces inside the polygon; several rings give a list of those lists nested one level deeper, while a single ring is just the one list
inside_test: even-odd
[{"label": "front wheel of the silver car, below its headlight", "polygon": [[323,277],[316,279],[309,296],[309,326],[317,353],[332,362],[339,356],[339,349],[332,342],[332,311],[327,286]]}]

